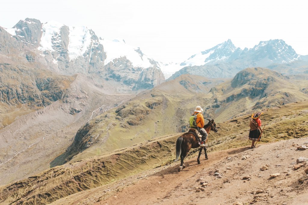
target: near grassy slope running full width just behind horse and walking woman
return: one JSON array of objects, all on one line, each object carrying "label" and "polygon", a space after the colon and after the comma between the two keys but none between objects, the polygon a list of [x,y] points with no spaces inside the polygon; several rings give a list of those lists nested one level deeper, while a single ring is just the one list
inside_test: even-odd
[{"label": "near grassy slope running full width just behind horse and walking woman", "polygon": [[[307,108],[308,101],[305,100],[264,110],[261,119],[267,126],[261,143],[307,136]],[[249,119],[249,116],[241,116],[220,123],[219,132],[209,136],[209,152],[250,144],[247,139]],[[175,157],[175,141],[179,135],[163,136],[131,148],[67,163],[0,187],[0,203],[50,203],[143,170],[170,164]],[[192,150],[190,155],[196,151]]]}]

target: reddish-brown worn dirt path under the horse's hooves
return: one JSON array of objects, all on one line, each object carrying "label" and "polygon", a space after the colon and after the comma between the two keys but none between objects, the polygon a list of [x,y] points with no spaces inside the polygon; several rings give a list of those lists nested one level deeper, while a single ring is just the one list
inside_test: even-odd
[{"label": "reddish-brown worn dirt path under the horse's hooves", "polygon": [[[240,149],[237,149],[240,150]],[[235,151],[237,151],[235,150]],[[213,155],[209,155],[210,160],[201,160],[201,164],[197,164],[197,160],[188,160],[184,163],[187,168],[181,172],[177,171],[178,166],[172,166],[156,174],[142,179],[129,188],[123,189],[115,196],[111,196],[106,201],[98,204],[155,204],[167,198],[176,191],[177,188],[187,179],[197,175],[198,172],[205,167],[212,166],[221,160],[221,157],[228,156],[228,152],[220,151]],[[202,156],[204,158],[204,156]],[[155,194],[154,194],[155,193]],[[133,202],[133,203],[132,203]],[[151,202],[151,203],[149,203]]]}]

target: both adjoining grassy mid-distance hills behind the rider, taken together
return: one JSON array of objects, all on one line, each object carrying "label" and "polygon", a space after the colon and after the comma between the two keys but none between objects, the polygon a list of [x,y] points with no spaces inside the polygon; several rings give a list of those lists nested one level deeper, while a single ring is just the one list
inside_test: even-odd
[{"label": "both adjoining grassy mid-distance hills behind the rider, taken together", "polygon": [[[308,99],[301,91],[307,86],[306,81],[293,81],[264,68],[245,69],[230,81],[218,82],[221,80],[181,75],[140,93],[124,104],[120,112],[121,106],[93,119],[87,126],[88,132],[77,133],[76,143],[54,164],[85,159],[186,130],[188,116],[196,105],[206,108],[205,118],[214,118],[219,123],[264,108]],[[157,104],[150,108],[153,102]]]}]

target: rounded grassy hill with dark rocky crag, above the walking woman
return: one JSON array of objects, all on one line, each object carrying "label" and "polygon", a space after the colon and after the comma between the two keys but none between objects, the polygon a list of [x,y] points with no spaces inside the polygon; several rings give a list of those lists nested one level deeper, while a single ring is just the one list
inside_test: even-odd
[{"label": "rounded grassy hill with dark rocky crag, above the walking woman", "polygon": [[245,69],[232,81],[212,89],[216,103],[207,112],[215,116],[217,122],[225,121],[239,113],[308,99],[307,93],[302,92],[307,86],[304,79],[294,81],[269,69]]}]

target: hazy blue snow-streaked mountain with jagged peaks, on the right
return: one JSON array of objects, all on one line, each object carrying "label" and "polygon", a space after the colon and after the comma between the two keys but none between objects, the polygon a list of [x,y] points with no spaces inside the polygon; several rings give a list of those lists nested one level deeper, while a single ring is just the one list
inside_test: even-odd
[{"label": "hazy blue snow-streaked mountain with jagged peaks, on the right", "polygon": [[182,69],[174,73],[170,79],[186,73],[206,77],[233,77],[239,70],[247,67],[266,67],[306,59],[307,56],[298,55],[283,40],[260,41],[253,48],[242,50],[235,47],[229,39],[189,57],[180,64]]}]

